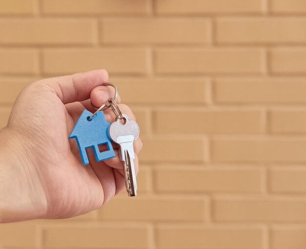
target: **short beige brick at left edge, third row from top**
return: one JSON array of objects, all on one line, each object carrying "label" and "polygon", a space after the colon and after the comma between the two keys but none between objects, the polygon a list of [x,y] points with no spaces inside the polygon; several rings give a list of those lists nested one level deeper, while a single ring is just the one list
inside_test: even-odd
[{"label": "short beige brick at left edge, third row from top", "polygon": [[38,53],[36,50],[0,49],[0,74],[33,75],[37,72]]}]

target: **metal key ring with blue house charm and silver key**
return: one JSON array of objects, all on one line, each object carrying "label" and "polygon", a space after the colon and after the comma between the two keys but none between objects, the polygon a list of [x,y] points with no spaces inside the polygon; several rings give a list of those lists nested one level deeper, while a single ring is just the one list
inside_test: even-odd
[{"label": "metal key ring with blue house charm and silver key", "polygon": [[[104,83],[103,85],[115,88],[114,97],[109,99],[109,104],[105,103],[99,108],[92,105],[96,110],[93,114],[84,110],[69,139],[76,139],[84,165],[89,163],[86,149],[93,148],[96,160],[99,162],[115,156],[110,140],[117,143],[119,146],[119,158],[123,163],[127,192],[129,196],[136,196],[137,182],[134,168],[133,142],[139,136],[139,126],[135,121],[130,120],[127,115],[122,114],[116,103],[118,97],[117,87],[111,83]],[[117,117],[116,121],[111,124],[105,120],[103,113],[109,108],[112,109]],[[99,146],[101,145],[107,145],[107,150],[100,151]]]}]

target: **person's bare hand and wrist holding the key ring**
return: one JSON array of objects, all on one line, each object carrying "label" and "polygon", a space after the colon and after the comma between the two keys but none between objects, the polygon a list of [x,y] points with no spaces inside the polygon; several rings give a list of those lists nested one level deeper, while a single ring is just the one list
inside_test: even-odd
[{"label": "person's bare hand and wrist holding the key ring", "polygon": [[[114,95],[105,70],[39,80],[16,100],[8,125],[0,130],[0,223],[69,218],[100,208],[125,189],[118,147],[115,157],[96,162],[89,151],[84,166],[68,136],[84,109],[93,112]],[[116,101],[135,120],[131,109]],[[116,117],[105,111],[108,122]],[[134,142],[135,169],[142,142]]]}]

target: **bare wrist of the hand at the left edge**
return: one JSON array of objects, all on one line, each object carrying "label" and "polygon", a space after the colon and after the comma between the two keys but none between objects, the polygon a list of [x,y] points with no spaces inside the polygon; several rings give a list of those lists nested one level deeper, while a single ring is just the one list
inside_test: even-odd
[{"label": "bare wrist of the hand at the left edge", "polygon": [[0,130],[0,223],[43,218],[44,189],[25,145],[9,128]]}]

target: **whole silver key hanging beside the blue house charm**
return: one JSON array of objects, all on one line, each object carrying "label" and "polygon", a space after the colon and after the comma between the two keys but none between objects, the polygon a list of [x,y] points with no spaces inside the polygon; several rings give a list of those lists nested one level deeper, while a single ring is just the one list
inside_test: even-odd
[{"label": "whole silver key hanging beside the blue house charm", "polygon": [[126,124],[122,124],[120,119],[109,126],[109,138],[119,144],[119,158],[123,161],[126,189],[129,196],[137,195],[137,181],[134,168],[134,148],[133,142],[139,136],[139,126],[135,121],[129,120],[128,116],[122,115],[126,119]]}]

